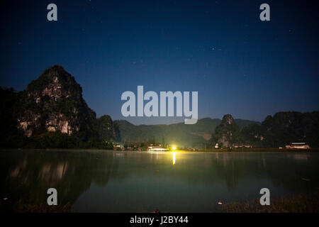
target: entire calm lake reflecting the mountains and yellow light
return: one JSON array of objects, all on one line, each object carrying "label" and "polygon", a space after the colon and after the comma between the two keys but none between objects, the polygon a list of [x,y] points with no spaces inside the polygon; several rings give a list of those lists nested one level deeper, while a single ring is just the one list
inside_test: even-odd
[{"label": "entire calm lake reflecting the mountains and yellow light", "polygon": [[214,212],[264,187],[271,199],[319,188],[319,153],[1,150],[0,162],[7,202],[46,204],[54,187],[73,212]]}]

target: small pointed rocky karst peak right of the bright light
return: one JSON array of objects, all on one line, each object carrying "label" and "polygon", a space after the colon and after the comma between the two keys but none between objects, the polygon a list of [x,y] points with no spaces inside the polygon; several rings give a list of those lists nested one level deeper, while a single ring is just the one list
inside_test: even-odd
[{"label": "small pointed rocky karst peak right of the bright light", "polygon": [[240,128],[234,121],[233,116],[226,114],[219,126],[216,127],[212,135],[212,143],[218,143],[223,148],[229,148],[235,143],[242,141]]}]

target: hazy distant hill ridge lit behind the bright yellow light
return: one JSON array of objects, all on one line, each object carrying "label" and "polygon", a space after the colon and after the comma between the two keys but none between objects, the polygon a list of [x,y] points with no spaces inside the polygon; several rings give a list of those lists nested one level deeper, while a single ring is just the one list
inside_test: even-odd
[{"label": "hazy distant hill ridge lit behind the bright yellow light", "polygon": [[[155,139],[161,142],[164,137],[165,143],[177,145],[196,146],[209,143],[211,134],[222,120],[218,118],[202,118],[194,125],[184,123],[172,123],[169,125],[139,125],[135,126],[125,120],[118,120],[123,143],[147,142]],[[240,128],[248,126],[250,123],[260,124],[257,121],[235,119]]]}]

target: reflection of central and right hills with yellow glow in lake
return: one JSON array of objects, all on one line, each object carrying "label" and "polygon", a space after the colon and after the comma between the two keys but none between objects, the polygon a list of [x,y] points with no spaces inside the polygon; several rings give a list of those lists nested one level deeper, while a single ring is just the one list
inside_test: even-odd
[{"label": "reflection of central and right hills with yellow glow in lake", "polygon": [[[225,184],[228,190],[238,189],[242,182],[270,179],[275,187],[299,190],[318,187],[318,155],[308,153],[125,153],[121,166],[128,175],[176,177],[189,184]],[[157,172],[158,170],[158,172]],[[117,175],[117,177],[119,177]],[[303,178],[303,179],[301,179]],[[250,187],[250,185],[247,185]]]}]

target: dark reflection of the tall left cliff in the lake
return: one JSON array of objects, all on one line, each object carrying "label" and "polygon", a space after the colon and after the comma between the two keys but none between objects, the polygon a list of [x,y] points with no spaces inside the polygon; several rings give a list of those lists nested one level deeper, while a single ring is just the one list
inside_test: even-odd
[{"label": "dark reflection of the tall left cliff in the lake", "polygon": [[73,204],[92,182],[106,185],[117,169],[113,153],[13,153],[1,163],[1,195],[13,203],[40,204],[47,201],[47,189],[54,187],[59,204]]}]

